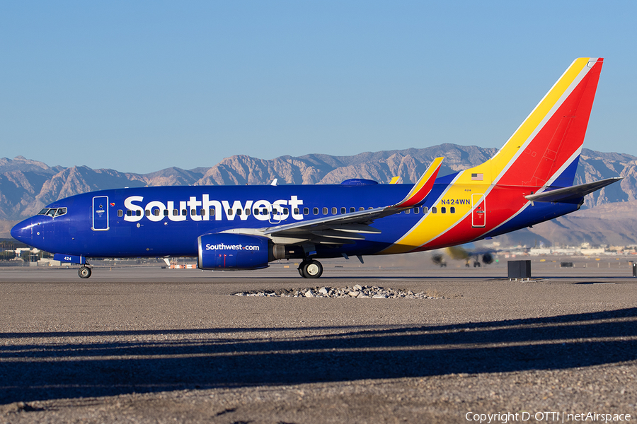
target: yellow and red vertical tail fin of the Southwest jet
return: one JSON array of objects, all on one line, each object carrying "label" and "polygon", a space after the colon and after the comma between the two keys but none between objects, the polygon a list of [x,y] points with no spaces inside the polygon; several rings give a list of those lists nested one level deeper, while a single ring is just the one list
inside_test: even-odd
[{"label": "yellow and red vertical tail fin of the Southwest jet", "polygon": [[529,187],[573,184],[603,61],[590,57],[573,61],[489,161],[493,183]]}]

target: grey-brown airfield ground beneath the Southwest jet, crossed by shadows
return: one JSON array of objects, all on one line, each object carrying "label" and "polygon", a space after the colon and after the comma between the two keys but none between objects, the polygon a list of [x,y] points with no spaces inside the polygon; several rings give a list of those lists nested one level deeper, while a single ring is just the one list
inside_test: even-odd
[{"label": "grey-brown airfield ground beneath the Southwest jet, crossed by shadows", "polygon": [[[529,281],[505,264],[326,261],[318,280],[113,265],[0,268],[0,423],[637,420],[624,258],[534,259]],[[232,295],[355,284],[434,298]]]}]

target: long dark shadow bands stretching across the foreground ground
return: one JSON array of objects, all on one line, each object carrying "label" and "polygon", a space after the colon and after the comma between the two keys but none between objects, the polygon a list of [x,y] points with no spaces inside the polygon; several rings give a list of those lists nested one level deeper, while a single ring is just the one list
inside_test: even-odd
[{"label": "long dark shadow bands stretching across the foreground ground", "polygon": [[[269,335],[280,331],[292,336],[272,339]],[[294,336],[296,331],[302,335]],[[233,333],[248,337],[227,336]],[[113,341],[124,336],[140,340]],[[9,339],[50,337],[79,342],[0,346],[0,404],[178,389],[587,367],[636,360],[635,336],[637,308],[381,329],[3,333],[2,345]],[[85,337],[108,341],[81,341]]]}]

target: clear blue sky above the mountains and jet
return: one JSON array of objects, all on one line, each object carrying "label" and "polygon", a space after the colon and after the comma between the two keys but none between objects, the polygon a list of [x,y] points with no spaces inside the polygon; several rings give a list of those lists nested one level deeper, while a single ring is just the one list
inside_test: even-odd
[{"label": "clear blue sky above the mountains and jet", "polygon": [[585,147],[637,155],[634,1],[4,1],[0,157],[124,172],[500,147],[604,57]]}]

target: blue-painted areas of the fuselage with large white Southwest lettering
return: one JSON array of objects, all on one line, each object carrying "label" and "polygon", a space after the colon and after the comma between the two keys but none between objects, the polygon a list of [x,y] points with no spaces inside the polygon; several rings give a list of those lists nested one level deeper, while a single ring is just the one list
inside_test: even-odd
[{"label": "blue-painted areas of the fuselage with large white Southwest lettering", "polygon": [[[435,206],[449,178],[435,184],[418,208],[373,223],[379,233],[345,244],[320,244],[316,257],[378,254],[394,244]],[[196,256],[197,237],[237,228],[268,228],[393,204],[408,184],[363,186],[195,186],[113,189],[71,196],[47,206],[57,213],[28,218],[11,235],[47,252],[84,257]],[[497,205],[491,205],[492,208]],[[488,237],[569,213],[575,204],[536,204]],[[442,216],[441,216],[442,217]],[[435,221],[434,221],[435,223]],[[444,231],[444,228],[440,228]],[[457,240],[469,242],[476,238]],[[457,243],[455,243],[457,244]],[[419,245],[414,245],[417,249]],[[441,246],[428,246],[434,249]],[[299,253],[303,257],[303,253]]]}]

